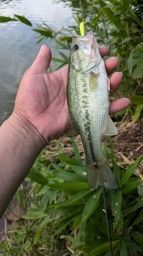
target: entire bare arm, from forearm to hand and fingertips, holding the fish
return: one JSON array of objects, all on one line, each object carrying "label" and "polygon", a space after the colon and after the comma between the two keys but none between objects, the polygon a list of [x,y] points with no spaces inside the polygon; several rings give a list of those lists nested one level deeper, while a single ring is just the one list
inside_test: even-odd
[{"label": "entire bare arm, from forearm to hand and fingertips, holding the fish", "polygon": [[[107,54],[101,47],[101,55]],[[67,67],[46,74],[51,52],[42,46],[35,62],[21,80],[14,112],[0,127],[0,218],[46,143],[64,134],[67,119]],[[105,63],[110,74],[117,58]],[[111,93],[116,91],[122,74],[111,76]],[[130,103],[123,98],[111,103],[110,114]]]}]

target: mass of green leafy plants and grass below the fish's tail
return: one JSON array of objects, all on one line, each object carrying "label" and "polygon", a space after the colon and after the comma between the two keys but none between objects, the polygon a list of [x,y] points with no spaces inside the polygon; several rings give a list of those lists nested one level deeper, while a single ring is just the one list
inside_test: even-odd
[{"label": "mass of green leafy plants and grass below the fish's tail", "polygon": [[[28,193],[26,188],[17,192],[27,213],[14,223],[10,239],[1,243],[0,255],[110,255],[102,188],[89,191],[85,161],[73,139],[71,143],[74,159],[59,155],[49,160],[45,150],[36,159],[27,177]],[[125,170],[117,165],[111,139],[110,148],[111,153],[105,147],[103,151],[111,159],[118,186],[115,191],[105,189],[113,255],[140,256],[143,189],[133,173],[143,155]]]}]

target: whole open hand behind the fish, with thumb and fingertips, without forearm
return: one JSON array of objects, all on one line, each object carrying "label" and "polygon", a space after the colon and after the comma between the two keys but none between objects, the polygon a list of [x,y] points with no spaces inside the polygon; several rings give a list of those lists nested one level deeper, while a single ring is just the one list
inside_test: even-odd
[{"label": "whole open hand behind the fish, with thumb and fingertips, without forearm", "polygon": [[[107,47],[100,47],[101,56],[108,52]],[[46,142],[64,134],[68,113],[66,100],[66,85],[68,67],[47,74],[51,62],[51,51],[45,45],[32,66],[26,71],[21,80],[15,100],[13,115],[22,124],[27,123],[45,138]],[[105,62],[107,74],[117,67],[118,59],[111,57]],[[119,87],[122,74],[114,73],[110,77],[110,93]],[[124,109],[130,103],[122,98],[110,104],[110,114]]]}]

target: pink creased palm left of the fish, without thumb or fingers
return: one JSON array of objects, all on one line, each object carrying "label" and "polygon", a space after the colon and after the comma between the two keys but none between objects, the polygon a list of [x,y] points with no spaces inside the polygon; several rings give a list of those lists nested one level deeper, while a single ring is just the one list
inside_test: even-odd
[{"label": "pink creased palm left of the fish, without thumb or fingers", "polygon": [[28,70],[21,80],[15,111],[29,120],[45,138],[63,135],[68,112],[66,83],[67,67],[51,74],[41,74],[41,71],[33,74]]}]

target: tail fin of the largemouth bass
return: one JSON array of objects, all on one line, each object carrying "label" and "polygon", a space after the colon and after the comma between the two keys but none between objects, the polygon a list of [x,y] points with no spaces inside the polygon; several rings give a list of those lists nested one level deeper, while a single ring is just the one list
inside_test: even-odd
[{"label": "tail fin of the largemouth bass", "polygon": [[113,173],[106,159],[103,160],[100,168],[86,162],[86,170],[88,174],[88,185],[90,190],[97,189],[98,186],[105,185],[107,188],[116,189],[117,185],[114,180]]}]

